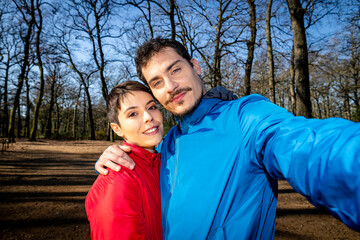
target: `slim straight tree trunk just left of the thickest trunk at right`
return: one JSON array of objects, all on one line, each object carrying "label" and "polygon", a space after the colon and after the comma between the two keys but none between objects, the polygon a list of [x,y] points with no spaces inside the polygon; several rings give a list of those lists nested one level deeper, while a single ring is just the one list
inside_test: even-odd
[{"label": "slim straight tree trunk just left of the thickest trunk at right", "polygon": [[267,46],[267,58],[268,58],[268,79],[270,88],[270,100],[276,103],[275,98],[275,74],[274,74],[274,56],[271,42],[271,7],[272,0],[269,0],[266,9],[266,46]]}]

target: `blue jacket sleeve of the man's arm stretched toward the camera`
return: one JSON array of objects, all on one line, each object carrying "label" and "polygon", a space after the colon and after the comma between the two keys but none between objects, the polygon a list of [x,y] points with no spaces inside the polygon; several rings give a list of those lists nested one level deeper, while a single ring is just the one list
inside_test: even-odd
[{"label": "blue jacket sleeve of the man's arm stretched toward the camera", "polygon": [[248,153],[264,171],[360,231],[360,123],[295,117],[260,96],[239,114]]}]

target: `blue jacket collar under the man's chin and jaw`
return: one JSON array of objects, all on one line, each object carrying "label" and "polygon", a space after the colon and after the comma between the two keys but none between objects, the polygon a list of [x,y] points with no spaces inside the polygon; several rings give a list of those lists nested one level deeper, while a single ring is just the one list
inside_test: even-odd
[{"label": "blue jacket collar under the man's chin and jaw", "polygon": [[196,125],[208,114],[212,108],[220,102],[220,99],[210,98],[210,99],[202,99],[199,106],[192,112],[185,116],[177,118],[178,120],[178,129],[182,134],[186,134],[189,130],[190,126]]}]

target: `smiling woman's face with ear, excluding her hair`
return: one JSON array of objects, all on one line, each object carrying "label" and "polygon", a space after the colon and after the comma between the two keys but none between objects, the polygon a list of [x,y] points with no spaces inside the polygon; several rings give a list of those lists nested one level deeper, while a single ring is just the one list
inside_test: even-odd
[{"label": "smiling woman's face with ear, excluding her hair", "polygon": [[125,94],[120,106],[120,126],[112,123],[116,134],[130,144],[148,150],[154,149],[163,138],[164,126],[163,117],[153,97],[147,92],[132,91]]}]

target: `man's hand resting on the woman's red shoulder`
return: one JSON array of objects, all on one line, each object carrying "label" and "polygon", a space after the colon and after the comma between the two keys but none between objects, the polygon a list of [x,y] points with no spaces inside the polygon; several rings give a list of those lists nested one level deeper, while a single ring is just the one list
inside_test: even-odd
[{"label": "man's hand resting on the woman's red shoulder", "polygon": [[131,170],[134,169],[135,162],[127,155],[130,151],[131,147],[124,145],[112,145],[108,147],[95,163],[95,170],[102,175],[107,175],[109,171],[106,168],[117,172],[120,171],[121,166]]}]

